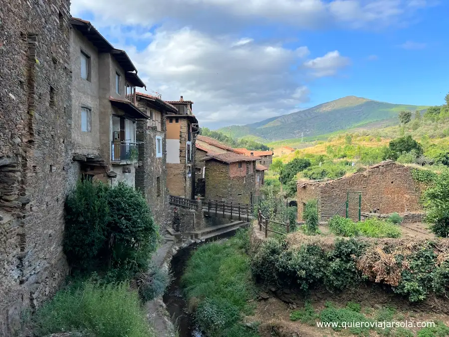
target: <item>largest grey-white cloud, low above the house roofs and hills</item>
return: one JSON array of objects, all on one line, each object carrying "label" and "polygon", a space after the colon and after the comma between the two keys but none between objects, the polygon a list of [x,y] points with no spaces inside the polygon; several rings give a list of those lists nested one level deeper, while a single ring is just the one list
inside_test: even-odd
[{"label": "largest grey-white cloud, low above the house roofs and hills", "polygon": [[309,53],[307,47],[235,44],[227,36],[183,28],[157,30],[141,51],[118,47],[127,50],[149,90],[167,100],[180,95],[193,100],[195,115],[209,126],[258,121],[298,110],[295,106],[308,101],[309,90],[294,70]]}]

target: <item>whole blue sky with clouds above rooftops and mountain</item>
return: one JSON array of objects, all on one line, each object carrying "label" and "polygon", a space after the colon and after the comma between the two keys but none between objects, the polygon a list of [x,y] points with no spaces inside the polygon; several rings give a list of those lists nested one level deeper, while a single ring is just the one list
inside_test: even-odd
[{"label": "whole blue sky with clouds above rooftops and mountain", "polygon": [[217,128],[355,95],[442,104],[447,0],[72,0],[163,99]]}]

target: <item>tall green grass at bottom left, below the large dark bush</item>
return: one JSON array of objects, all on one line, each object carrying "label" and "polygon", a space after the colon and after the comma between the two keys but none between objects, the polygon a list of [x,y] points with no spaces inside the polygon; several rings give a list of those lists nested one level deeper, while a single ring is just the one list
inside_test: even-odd
[{"label": "tall green grass at bottom left, below the large dark bush", "polygon": [[137,292],[127,283],[60,290],[33,318],[38,336],[85,332],[96,337],[154,337]]}]

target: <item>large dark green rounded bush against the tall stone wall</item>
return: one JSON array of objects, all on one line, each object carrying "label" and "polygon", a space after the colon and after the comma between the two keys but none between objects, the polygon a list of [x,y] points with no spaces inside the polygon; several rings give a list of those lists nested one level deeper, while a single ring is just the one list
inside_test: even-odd
[{"label": "large dark green rounded bush against the tall stone wall", "polygon": [[146,271],[158,233],[141,193],[84,180],[67,197],[65,212],[64,252],[74,269],[102,270],[112,281]]}]

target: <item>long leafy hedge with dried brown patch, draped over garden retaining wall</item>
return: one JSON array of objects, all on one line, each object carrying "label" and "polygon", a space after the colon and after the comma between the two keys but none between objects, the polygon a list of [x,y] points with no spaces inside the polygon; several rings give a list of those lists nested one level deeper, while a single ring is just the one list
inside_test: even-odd
[{"label": "long leafy hedge with dried brown patch, draped over garden retaining wall", "polygon": [[370,281],[390,286],[411,302],[448,293],[449,251],[444,242],[351,238],[336,239],[330,246],[306,238],[293,247],[277,238],[266,240],[251,259],[256,280],[303,291],[321,286],[341,291]]}]

